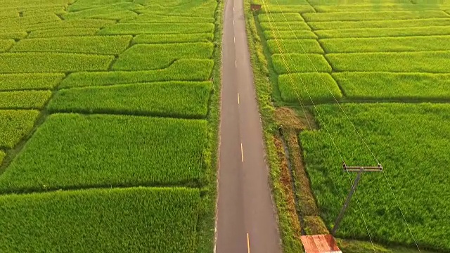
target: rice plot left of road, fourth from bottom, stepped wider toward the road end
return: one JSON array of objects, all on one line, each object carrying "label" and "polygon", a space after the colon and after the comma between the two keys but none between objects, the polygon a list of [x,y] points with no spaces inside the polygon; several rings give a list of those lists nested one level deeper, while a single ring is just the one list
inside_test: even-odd
[{"label": "rice plot left of road, fourth from bottom, stepped wider toward the road end", "polygon": [[175,80],[205,81],[210,79],[213,65],[210,59],[181,59],[162,70],[77,72],[64,79],[59,88]]}]

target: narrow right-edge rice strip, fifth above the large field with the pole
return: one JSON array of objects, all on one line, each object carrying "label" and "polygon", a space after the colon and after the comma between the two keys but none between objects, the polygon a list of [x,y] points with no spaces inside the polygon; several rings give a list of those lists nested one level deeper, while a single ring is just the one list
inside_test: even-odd
[{"label": "narrow right-edge rice strip, fifth above the large field with the pole", "polygon": [[448,26],[450,19],[427,18],[417,20],[371,20],[371,21],[332,21],[332,22],[308,22],[313,30],[356,29],[356,28],[406,28],[406,27],[430,27]]}]

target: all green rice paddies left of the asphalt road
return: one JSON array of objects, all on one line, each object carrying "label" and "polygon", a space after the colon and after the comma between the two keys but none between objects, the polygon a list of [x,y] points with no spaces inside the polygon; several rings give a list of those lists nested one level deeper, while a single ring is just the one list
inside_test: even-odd
[{"label": "all green rice paddies left of the asphalt road", "polygon": [[0,252],[212,251],[221,5],[0,0]]}]

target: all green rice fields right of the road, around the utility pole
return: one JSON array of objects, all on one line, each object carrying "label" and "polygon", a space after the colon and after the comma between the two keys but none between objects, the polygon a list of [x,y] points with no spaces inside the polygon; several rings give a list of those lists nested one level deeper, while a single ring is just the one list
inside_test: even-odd
[{"label": "all green rice fields right of the road, around the utility pole", "polygon": [[[383,172],[362,176],[336,237],[449,252],[450,1],[258,2],[254,39],[264,47],[272,100],[305,125],[295,133],[297,159],[328,231],[356,176],[342,160],[380,162]],[[299,201],[297,210],[309,205]],[[310,218],[299,216],[307,234],[317,226]],[[397,252],[354,252],[374,251]]]}]

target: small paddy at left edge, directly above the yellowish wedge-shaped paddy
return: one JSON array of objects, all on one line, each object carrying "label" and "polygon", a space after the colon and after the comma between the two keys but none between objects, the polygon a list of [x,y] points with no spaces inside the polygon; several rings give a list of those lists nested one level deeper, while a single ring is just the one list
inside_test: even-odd
[{"label": "small paddy at left edge, directly above the yellowish wedge-shaped paddy", "polygon": [[1,91],[0,109],[42,109],[51,91]]}]

